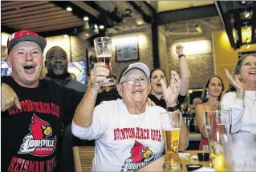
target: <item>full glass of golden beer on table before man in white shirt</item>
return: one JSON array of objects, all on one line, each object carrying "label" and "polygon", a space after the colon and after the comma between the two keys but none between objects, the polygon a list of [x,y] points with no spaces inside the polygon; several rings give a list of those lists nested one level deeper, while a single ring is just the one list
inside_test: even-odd
[{"label": "full glass of golden beer on table before man in white shirt", "polygon": [[181,120],[181,112],[161,113],[161,128],[165,139],[165,169],[181,169],[178,153]]}]

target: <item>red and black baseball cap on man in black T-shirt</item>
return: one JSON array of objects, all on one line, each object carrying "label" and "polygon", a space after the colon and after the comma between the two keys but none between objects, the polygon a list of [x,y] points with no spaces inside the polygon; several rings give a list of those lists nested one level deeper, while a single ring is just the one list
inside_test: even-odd
[{"label": "red and black baseball cap on man in black T-shirt", "polygon": [[30,30],[20,30],[14,34],[10,34],[7,40],[8,52],[10,52],[10,50],[19,42],[25,41],[37,43],[42,48],[42,50],[44,50],[44,48],[47,46],[47,40],[42,36],[39,36]]}]

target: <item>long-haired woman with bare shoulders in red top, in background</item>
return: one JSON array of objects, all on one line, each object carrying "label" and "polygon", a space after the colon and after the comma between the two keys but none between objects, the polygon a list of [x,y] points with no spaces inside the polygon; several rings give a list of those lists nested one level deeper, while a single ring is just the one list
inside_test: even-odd
[{"label": "long-haired woman with bare shoulders in red top, in background", "polygon": [[202,103],[196,106],[196,121],[198,129],[201,133],[199,150],[209,149],[204,148],[205,146],[209,146],[205,130],[204,114],[209,110],[219,109],[221,94],[223,90],[225,90],[225,88],[222,79],[217,75],[211,76],[206,82],[205,89],[202,93]]}]

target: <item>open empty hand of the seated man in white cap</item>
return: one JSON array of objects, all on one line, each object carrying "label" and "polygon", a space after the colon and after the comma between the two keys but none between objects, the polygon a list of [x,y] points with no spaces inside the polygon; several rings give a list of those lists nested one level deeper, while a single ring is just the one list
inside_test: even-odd
[{"label": "open empty hand of the seated man in white cap", "polygon": [[171,71],[171,81],[170,85],[166,86],[165,81],[161,80],[161,86],[163,88],[163,96],[167,106],[175,106],[177,103],[177,98],[181,90],[181,78],[175,71]]}]

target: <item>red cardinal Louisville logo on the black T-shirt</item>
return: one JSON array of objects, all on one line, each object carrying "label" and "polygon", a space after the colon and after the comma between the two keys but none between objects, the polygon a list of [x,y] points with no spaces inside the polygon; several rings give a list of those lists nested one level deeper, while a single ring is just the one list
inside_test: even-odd
[{"label": "red cardinal Louisville logo on the black T-shirt", "polygon": [[43,157],[55,151],[56,136],[52,137],[52,129],[48,122],[38,118],[35,114],[30,124],[30,134],[23,138],[18,154],[33,154]]}]

